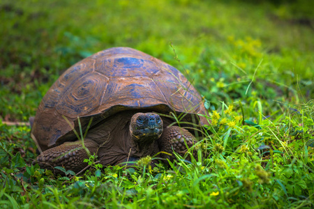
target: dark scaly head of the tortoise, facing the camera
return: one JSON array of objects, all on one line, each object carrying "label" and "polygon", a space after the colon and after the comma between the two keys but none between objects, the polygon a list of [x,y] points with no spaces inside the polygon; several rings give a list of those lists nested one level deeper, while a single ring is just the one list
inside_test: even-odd
[{"label": "dark scaly head of the tortoise, facing the camera", "polygon": [[151,112],[134,114],[130,120],[130,134],[137,144],[151,144],[163,134],[163,120]]}]

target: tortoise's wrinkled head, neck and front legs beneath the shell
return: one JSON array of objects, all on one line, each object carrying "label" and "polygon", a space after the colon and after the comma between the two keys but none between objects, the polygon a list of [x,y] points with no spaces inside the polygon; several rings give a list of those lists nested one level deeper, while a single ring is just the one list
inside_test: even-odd
[{"label": "tortoise's wrinkled head, neck and front legs beneath the shell", "polygon": [[[96,153],[98,160],[104,166],[138,160],[140,157],[155,155],[160,151],[172,153],[174,150],[184,156],[186,145],[190,147],[195,144],[193,134],[178,126],[167,127],[170,122],[158,114],[130,113],[129,121],[126,120],[128,116],[126,113],[117,114],[111,121],[108,120],[88,132],[84,139],[84,145],[89,153],[91,155]],[[128,121],[128,123],[121,121]],[[112,132],[106,132],[106,128]],[[174,155],[171,157],[161,155],[161,157],[175,159]],[[54,167],[59,166],[79,172],[87,167],[87,163],[83,162],[86,158],[88,154],[82,148],[82,142],[73,141],[45,150],[36,161],[45,169],[54,170]]]}]

